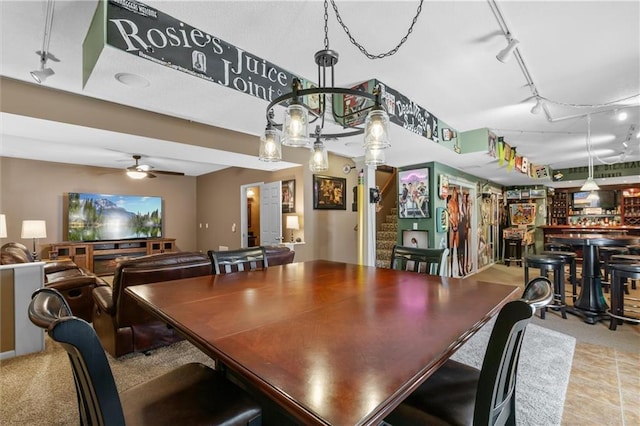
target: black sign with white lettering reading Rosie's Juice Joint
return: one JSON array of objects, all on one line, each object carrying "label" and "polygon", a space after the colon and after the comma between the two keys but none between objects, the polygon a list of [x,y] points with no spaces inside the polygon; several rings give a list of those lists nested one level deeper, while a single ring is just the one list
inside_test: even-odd
[{"label": "black sign with white lettering reading Rosie's Juice Joint", "polygon": [[135,0],[109,0],[107,44],[271,102],[298,77],[224,40]]}]

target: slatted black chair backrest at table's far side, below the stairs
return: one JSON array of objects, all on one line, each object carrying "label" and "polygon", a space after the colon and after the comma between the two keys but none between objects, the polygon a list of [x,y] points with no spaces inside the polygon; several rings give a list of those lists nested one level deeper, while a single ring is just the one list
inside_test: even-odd
[{"label": "slatted black chair backrest at table's far side, below the stairs", "polygon": [[424,249],[395,245],[391,251],[391,269],[446,276],[448,254],[449,249]]}]

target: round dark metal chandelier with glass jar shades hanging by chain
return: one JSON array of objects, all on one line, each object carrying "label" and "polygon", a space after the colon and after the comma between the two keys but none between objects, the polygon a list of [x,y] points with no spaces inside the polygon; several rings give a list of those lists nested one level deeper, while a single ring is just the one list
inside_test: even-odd
[{"label": "round dark metal chandelier with glass jar shades hanging by chain", "polygon": [[[383,54],[371,55],[353,39],[333,0],[331,0],[331,4],[338,22],[349,35],[351,42],[370,59],[381,59],[395,54],[413,31],[413,26],[422,10],[421,0],[407,35],[394,49]],[[334,86],[334,67],[338,62],[339,55],[338,52],[329,49],[328,16],[328,0],[325,0],[324,49],[314,55],[315,63],[318,66],[318,87],[304,89],[300,80],[294,78],[291,92],[285,93],[269,103],[266,113],[267,126],[264,135],[260,138],[259,158],[262,161],[280,161],[282,159],[282,145],[303,147],[311,151],[309,169],[313,172],[326,171],[329,168],[329,161],[323,139],[326,142],[327,139],[364,134],[365,164],[370,166],[385,164],[385,150],[391,146],[391,143],[389,140],[389,115],[383,107],[380,87],[376,85],[372,93],[369,93],[363,90]],[[336,100],[342,101],[345,95],[349,96],[352,103],[358,107],[348,111],[345,108],[344,113],[339,115],[334,108],[334,102]],[[336,98],[334,99],[334,97]],[[314,102],[305,103],[304,99],[313,99]],[[314,106],[309,106],[309,103],[313,103]],[[281,122],[277,122],[274,117],[274,108],[278,105],[286,106]],[[325,133],[325,115],[329,106],[333,121],[345,123],[340,133]],[[346,124],[361,122],[361,117],[365,114],[364,127]],[[314,124],[315,131],[310,133],[309,126]]]}]

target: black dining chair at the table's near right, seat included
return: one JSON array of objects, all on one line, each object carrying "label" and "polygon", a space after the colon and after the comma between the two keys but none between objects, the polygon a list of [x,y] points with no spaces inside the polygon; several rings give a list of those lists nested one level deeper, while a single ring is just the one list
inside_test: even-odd
[{"label": "black dining chair at the table's near right, seat included", "polygon": [[481,370],[448,360],[385,422],[393,426],[515,425],[516,375],[522,339],[535,309],[553,299],[553,287],[548,279],[534,279],[523,297],[500,310]]}]

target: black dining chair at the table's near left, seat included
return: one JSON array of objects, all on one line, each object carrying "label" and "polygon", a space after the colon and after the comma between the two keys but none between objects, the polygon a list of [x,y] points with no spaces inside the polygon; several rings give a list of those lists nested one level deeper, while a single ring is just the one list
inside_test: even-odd
[{"label": "black dining chair at the table's near left, seat included", "polygon": [[260,425],[262,410],[223,373],[184,364],[118,393],[111,367],[89,323],[72,316],[55,289],[33,293],[29,318],[69,355],[81,425]]}]

